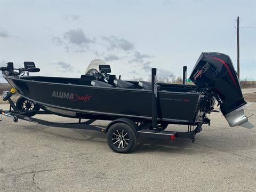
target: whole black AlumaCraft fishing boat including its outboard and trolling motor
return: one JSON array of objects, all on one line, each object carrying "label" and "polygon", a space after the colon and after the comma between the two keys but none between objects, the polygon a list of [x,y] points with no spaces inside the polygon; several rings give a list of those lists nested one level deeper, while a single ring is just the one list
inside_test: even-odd
[{"label": "whole black AlumaCraft fishing boat including its outboard and trolling motor", "polygon": [[[154,137],[157,133],[165,134],[162,132],[168,124],[183,124],[190,126],[187,132],[189,135],[175,132],[168,133],[169,136],[191,138],[194,137],[191,135],[202,130],[203,124],[210,125],[208,115],[217,111],[214,109],[217,100],[230,126],[253,127],[244,114],[243,109],[249,103],[243,98],[236,71],[228,55],[203,52],[189,77],[195,85],[157,83],[156,69],[152,69],[151,82],[124,81],[120,76],[117,78],[112,75],[106,63],[96,64],[91,63],[81,78],[65,78],[25,76],[25,73],[39,71],[34,62],[24,62],[25,67],[19,69],[14,69],[11,62],[7,63],[7,67],[1,68],[3,77],[22,96],[22,101],[27,100],[27,104],[21,103],[21,106],[11,104],[13,110],[10,110],[12,113],[9,115],[25,119],[24,116],[38,114],[41,108],[46,114],[78,118],[79,123],[81,119],[113,122],[125,119],[126,124],[130,122],[130,126],[138,125],[134,128],[136,133]],[[15,91],[5,92],[4,99],[12,102],[10,97]],[[37,110],[22,108],[27,105],[37,106]],[[104,132],[111,126],[114,124],[109,125]],[[191,126],[196,126],[196,129],[191,130]],[[118,143],[122,143],[120,138],[124,137],[118,138]],[[108,142],[111,143],[111,139]],[[120,146],[112,149],[127,153],[127,148],[122,152]]]}]

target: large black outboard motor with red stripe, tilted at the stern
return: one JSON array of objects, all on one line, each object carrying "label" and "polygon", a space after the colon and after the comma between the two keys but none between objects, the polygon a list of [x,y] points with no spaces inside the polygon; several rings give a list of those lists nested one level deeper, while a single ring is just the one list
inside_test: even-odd
[{"label": "large black outboard motor with red stripe, tilted at the stern", "polygon": [[203,52],[189,77],[199,89],[212,89],[229,126],[252,128],[244,115],[246,103],[236,71],[228,55]]}]

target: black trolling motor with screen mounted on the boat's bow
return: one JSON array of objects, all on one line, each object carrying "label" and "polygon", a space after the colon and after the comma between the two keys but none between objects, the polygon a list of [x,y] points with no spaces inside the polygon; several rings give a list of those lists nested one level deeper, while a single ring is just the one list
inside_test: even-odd
[{"label": "black trolling motor with screen mounted on the boat's bow", "polygon": [[35,63],[31,61],[25,61],[24,68],[18,68],[18,69],[13,67],[13,62],[8,62],[6,64],[7,64],[6,67],[0,67],[2,74],[6,76],[17,77],[17,76],[25,75],[25,71],[27,72],[27,75],[29,75],[29,72],[35,73],[40,71],[39,68],[36,68]]}]

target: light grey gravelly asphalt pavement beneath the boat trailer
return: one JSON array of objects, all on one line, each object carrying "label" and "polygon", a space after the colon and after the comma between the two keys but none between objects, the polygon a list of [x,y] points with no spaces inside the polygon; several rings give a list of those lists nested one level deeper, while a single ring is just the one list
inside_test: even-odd
[{"label": "light grey gravelly asphalt pavement beneath the boat trailer", "polygon": [[[255,114],[256,103],[245,112]],[[117,154],[100,132],[3,117],[0,191],[256,191],[256,129],[229,127],[220,113],[211,119],[194,143],[142,140],[132,154]]]}]

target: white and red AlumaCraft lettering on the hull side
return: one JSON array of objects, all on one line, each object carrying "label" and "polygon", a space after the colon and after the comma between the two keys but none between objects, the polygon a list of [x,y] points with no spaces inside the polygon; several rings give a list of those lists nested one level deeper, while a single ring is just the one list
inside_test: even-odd
[{"label": "white and red AlumaCraft lettering on the hull side", "polygon": [[78,95],[74,93],[66,93],[66,92],[59,92],[53,91],[52,97],[55,98],[62,98],[62,99],[69,99],[70,101],[89,101],[92,98],[92,95]]}]

